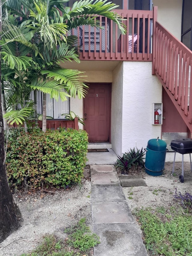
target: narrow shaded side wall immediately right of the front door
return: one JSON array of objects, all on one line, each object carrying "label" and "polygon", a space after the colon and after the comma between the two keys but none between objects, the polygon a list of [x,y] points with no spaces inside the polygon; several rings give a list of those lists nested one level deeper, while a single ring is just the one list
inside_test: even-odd
[{"label": "narrow shaded side wall immediately right of the front door", "polygon": [[123,62],[113,71],[111,97],[111,143],[117,155],[122,154],[122,94]]}]

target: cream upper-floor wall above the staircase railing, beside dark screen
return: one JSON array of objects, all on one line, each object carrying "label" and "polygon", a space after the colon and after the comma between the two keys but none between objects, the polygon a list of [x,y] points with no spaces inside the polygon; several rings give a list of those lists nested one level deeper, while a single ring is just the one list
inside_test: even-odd
[{"label": "cream upper-floor wall above the staircase railing, beside dark screen", "polygon": [[153,0],[158,6],[158,22],[181,40],[182,0]]}]

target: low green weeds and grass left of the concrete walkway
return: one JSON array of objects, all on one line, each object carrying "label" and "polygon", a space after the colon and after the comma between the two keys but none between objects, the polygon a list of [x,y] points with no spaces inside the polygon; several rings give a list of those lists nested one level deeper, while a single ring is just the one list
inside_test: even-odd
[{"label": "low green weeds and grass left of the concrete walkway", "polygon": [[[99,236],[91,233],[90,228],[82,218],[70,228],[64,230],[67,238],[64,241],[54,235],[47,235],[43,242],[31,253],[21,256],[88,256],[91,249],[99,242]],[[86,254],[85,254],[86,253]]]}]

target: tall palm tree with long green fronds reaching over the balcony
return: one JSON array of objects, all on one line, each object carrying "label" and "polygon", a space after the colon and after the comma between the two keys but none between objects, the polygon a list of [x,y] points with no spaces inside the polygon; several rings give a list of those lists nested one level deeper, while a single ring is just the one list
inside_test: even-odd
[{"label": "tall palm tree with long green fronds reaching over the balcony", "polygon": [[[43,131],[46,131],[46,93],[56,100],[60,96],[62,101],[75,97],[76,92],[79,98],[85,97],[86,93],[83,72],[59,66],[65,61],[80,62],[75,47],[71,46],[74,38],[67,37],[68,30],[85,24],[99,26],[95,23],[95,17],[91,17],[98,14],[113,20],[125,34],[122,18],[112,12],[117,5],[107,0],[81,0],[75,2],[70,10],[65,6],[66,2],[7,0],[5,3],[7,12],[14,14],[11,17],[18,27],[30,29],[30,35],[33,35],[31,43],[39,49],[39,53],[32,52],[32,58],[40,69],[35,69],[35,78],[28,76],[28,86],[43,92]],[[16,36],[13,32],[15,40]]]}]

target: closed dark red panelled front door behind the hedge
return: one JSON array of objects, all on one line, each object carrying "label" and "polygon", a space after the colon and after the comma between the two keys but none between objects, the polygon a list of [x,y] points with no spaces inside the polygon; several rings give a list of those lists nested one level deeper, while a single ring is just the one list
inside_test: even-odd
[{"label": "closed dark red panelled front door behind the hedge", "polygon": [[90,84],[83,101],[85,131],[89,142],[110,141],[110,84]]}]

